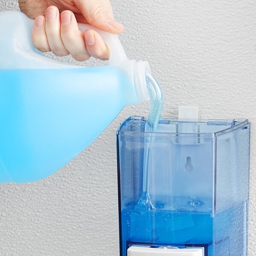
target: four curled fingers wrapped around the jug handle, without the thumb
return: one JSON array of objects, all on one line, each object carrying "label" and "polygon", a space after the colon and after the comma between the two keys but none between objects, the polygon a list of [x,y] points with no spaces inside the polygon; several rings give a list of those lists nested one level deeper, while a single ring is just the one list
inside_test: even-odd
[{"label": "four curled fingers wrapped around the jug handle, without the thumb", "polygon": [[102,60],[109,58],[108,47],[97,32],[88,29],[83,34],[73,12],[63,11],[59,15],[56,9],[50,6],[45,17],[39,15],[35,18],[32,42],[38,50],[52,51],[58,56],[71,54],[77,61],[85,61],[90,56]]}]

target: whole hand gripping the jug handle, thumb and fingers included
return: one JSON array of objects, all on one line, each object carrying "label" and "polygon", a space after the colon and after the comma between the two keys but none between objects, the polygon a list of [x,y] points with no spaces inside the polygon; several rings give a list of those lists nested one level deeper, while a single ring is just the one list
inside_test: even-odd
[{"label": "whole hand gripping the jug handle, thumb and fingers included", "polygon": [[78,61],[90,56],[108,59],[109,51],[97,32],[88,29],[83,34],[77,22],[89,23],[113,34],[124,29],[113,20],[108,0],[19,0],[19,5],[28,17],[35,18],[32,41],[37,49],[52,51],[58,56],[71,54]]}]

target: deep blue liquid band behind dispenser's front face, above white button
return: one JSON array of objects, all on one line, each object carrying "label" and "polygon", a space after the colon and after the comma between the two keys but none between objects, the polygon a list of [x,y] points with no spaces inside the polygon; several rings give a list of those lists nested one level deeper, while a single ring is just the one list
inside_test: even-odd
[{"label": "deep blue liquid band behind dispenser's front face, above white button", "polygon": [[213,220],[209,213],[124,209],[122,217],[130,223],[131,241],[163,244],[184,244],[186,241],[205,244],[212,241]]}]

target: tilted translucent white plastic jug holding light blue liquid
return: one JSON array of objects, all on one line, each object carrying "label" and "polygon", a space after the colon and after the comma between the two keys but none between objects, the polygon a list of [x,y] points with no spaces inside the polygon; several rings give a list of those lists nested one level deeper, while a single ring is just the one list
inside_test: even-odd
[{"label": "tilted translucent white plastic jug holding light blue liquid", "polygon": [[95,29],[110,59],[102,67],[79,67],[41,55],[30,39],[32,22],[18,11],[0,12],[0,183],[51,175],[125,105],[149,99],[148,63],[128,60],[116,35]]}]

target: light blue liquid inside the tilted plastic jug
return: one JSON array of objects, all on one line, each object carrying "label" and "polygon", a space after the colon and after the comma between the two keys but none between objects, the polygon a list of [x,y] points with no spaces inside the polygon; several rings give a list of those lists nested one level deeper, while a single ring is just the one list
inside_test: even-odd
[{"label": "light blue liquid inside the tilted plastic jug", "polygon": [[52,175],[134,103],[111,66],[0,70],[0,183]]}]

